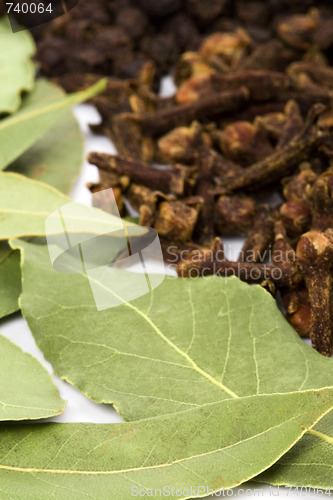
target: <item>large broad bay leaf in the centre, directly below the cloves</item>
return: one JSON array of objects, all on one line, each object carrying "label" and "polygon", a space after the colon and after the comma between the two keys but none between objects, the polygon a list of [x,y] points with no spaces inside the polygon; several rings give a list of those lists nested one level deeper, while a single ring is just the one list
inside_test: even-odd
[{"label": "large broad bay leaf in the centre, directly below the cloves", "polygon": [[87,276],[55,271],[46,246],[11,245],[22,252],[23,315],[55,373],[124,420],[333,385],[333,360],[300,340],[260,286],[167,277],[98,312]]}]

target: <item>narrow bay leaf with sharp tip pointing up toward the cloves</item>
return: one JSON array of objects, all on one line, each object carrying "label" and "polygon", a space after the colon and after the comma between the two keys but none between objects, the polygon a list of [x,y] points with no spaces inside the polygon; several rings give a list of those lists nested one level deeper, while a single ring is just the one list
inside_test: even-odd
[{"label": "narrow bay leaf with sharp tip pointing up toward the cloves", "polygon": [[105,87],[104,79],[82,92],[43,102],[35,102],[32,93],[29,97],[31,105],[0,121],[0,169],[8,167],[33,146],[63,113],[99,94]]}]

